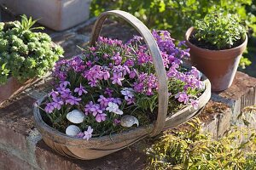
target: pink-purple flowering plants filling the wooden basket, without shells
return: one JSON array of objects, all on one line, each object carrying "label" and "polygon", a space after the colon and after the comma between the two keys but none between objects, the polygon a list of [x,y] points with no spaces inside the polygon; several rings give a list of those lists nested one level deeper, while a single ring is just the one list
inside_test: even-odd
[{"label": "pink-purple flowering plants filling the wooden basket, without shells", "polygon": [[[176,46],[167,31],[152,33],[166,67],[169,116],[187,105],[196,109],[204,83],[194,67],[189,70],[182,66],[189,49],[183,42]],[[136,128],[120,125],[125,115],[135,116],[141,126],[156,120],[158,80],[142,37],[135,36],[126,43],[100,37],[95,47],[83,49],[82,57],[57,62],[53,76],[52,92],[40,108],[49,125],[62,133],[71,124],[66,116],[73,110],[86,115],[78,125],[86,133],[79,133],[84,139],[90,138],[89,127],[92,137]]]}]

